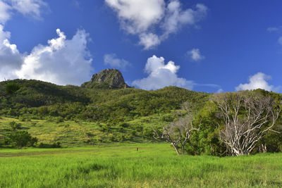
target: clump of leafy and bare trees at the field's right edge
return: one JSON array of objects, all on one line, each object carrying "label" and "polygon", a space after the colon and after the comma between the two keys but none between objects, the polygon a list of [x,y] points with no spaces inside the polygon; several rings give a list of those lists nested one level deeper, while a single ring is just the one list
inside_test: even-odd
[{"label": "clump of leafy and bare trees at the field's right edge", "polygon": [[240,156],[282,151],[282,96],[253,92],[213,94],[200,111],[154,128],[178,154]]}]

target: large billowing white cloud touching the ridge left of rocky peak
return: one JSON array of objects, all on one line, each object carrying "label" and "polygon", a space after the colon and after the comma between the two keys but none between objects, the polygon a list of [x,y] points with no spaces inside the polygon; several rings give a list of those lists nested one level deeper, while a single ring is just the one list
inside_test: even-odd
[{"label": "large billowing white cloud touching the ridge left of rocky peak", "polygon": [[90,52],[87,51],[88,34],[78,30],[72,39],[66,39],[61,30],[56,39],[48,41],[48,45],[39,44],[25,56],[16,75],[21,79],[35,79],[55,84],[82,84],[90,79]]}]

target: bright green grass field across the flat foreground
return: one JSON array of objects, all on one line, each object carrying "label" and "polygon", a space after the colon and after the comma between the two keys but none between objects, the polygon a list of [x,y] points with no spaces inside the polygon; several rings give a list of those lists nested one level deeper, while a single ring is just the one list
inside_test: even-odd
[{"label": "bright green grass field across the flat foreground", "polygon": [[169,144],[1,149],[0,187],[282,187],[281,158],[176,156]]}]

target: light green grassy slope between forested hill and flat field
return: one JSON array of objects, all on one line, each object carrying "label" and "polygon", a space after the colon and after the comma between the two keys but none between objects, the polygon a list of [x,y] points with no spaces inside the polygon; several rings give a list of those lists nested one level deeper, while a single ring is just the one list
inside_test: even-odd
[{"label": "light green grassy slope between forested hill and flat field", "polygon": [[[97,139],[102,139],[103,143],[117,142],[118,138],[123,135],[125,138],[123,142],[151,142],[152,137],[143,135],[143,132],[147,129],[152,132],[152,125],[159,125],[164,123],[159,120],[159,115],[151,115],[149,117],[142,117],[137,120],[128,122],[130,127],[121,127],[112,125],[108,130],[103,130],[106,127],[104,123],[88,123],[88,122],[74,122],[65,121],[63,123],[49,122],[47,120],[31,120],[27,122],[21,122],[14,118],[1,118],[0,119],[0,142],[4,134],[10,132],[8,123],[15,121],[22,125],[22,130],[27,130],[33,137],[37,137],[38,143],[43,142],[45,144],[53,144],[54,142],[61,142],[62,146],[87,146],[92,143],[87,143],[88,139],[93,139],[94,144],[100,144]],[[142,127],[142,130],[140,130]],[[132,132],[135,134],[132,135]],[[90,137],[87,137],[90,134]],[[110,140],[110,137],[114,137],[115,140]],[[130,138],[128,138],[130,137]]]}]

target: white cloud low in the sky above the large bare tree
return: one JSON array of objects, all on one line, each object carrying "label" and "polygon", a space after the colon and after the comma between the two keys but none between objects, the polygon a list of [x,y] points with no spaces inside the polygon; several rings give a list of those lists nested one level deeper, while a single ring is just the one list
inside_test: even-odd
[{"label": "white cloud low in the sky above the large bare tree", "polygon": [[270,85],[267,80],[271,80],[270,75],[265,75],[264,73],[257,73],[250,76],[249,83],[239,84],[235,87],[236,91],[239,90],[252,90],[252,89],[264,89],[266,91],[272,91],[274,89],[273,85]]}]

